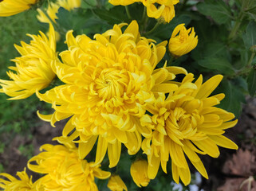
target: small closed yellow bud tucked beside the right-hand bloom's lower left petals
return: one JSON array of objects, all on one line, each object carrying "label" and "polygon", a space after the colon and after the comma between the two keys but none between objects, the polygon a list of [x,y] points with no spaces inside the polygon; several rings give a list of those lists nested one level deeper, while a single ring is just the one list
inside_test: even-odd
[{"label": "small closed yellow bud tucked beside the right-hand bloom's lower left petals", "polygon": [[148,162],[146,160],[138,160],[132,163],[130,169],[132,179],[137,186],[147,186],[150,179],[148,178]]}]

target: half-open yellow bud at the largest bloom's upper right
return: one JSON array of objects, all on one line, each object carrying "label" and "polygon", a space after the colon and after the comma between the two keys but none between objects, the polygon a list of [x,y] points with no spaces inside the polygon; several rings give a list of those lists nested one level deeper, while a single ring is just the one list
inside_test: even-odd
[{"label": "half-open yellow bud at the largest bloom's upper right", "polygon": [[186,29],[185,24],[175,27],[169,41],[169,51],[174,57],[180,57],[195,49],[198,37],[195,36],[194,28]]}]

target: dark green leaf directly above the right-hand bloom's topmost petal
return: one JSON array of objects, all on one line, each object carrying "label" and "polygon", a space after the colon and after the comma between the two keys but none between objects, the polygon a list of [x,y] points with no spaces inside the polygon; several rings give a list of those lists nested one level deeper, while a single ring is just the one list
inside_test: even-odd
[{"label": "dark green leaf directly above the right-hand bloom's topmost petal", "polygon": [[214,69],[222,74],[232,75],[234,74],[234,69],[232,65],[224,57],[207,57],[203,60],[199,60],[198,64],[204,68]]}]

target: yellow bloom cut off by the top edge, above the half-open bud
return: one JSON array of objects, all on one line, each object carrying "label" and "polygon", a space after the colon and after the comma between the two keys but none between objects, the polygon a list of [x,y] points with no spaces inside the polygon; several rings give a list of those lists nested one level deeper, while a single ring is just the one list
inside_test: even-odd
[{"label": "yellow bloom cut off by the top edge, above the half-open bud", "polygon": [[175,17],[174,6],[179,0],[108,0],[114,6],[128,6],[134,2],[142,2],[147,7],[149,18],[163,18],[164,21],[170,22]]}]

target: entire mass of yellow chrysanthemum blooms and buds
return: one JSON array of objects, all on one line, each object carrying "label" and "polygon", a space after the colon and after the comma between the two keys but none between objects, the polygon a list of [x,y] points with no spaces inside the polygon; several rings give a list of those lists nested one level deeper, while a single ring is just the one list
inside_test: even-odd
[{"label": "entire mass of yellow chrysanthemum blooms and buds", "polygon": [[[141,2],[147,8],[148,17],[169,22],[175,16],[174,5],[179,0],[109,2],[123,6]],[[6,5],[13,4],[0,0],[0,16],[8,12],[9,8],[2,8]],[[22,2],[18,5],[25,10]],[[167,41],[156,44],[153,39],[141,37],[137,21],[116,24],[102,34],[96,33],[93,39],[85,34],[75,37],[73,30],[69,30],[65,41],[68,49],[57,53],[52,25],[57,24],[57,11],[60,7],[73,10],[79,6],[81,0],[51,2],[46,10],[49,17],[42,10],[38,10],[37,16],[39,21],[49,23],[49,38],[44,33],[29,35],[33,39],[30,44],[15,45],[22,56],[13,60],[16,67],[10,69],[14,72],[7,72],[11,80],[0,80],[0,92],[10,99],[25,99],[36,93],[54,110],[50,115],[38,112],[41,119],[53,127],[57,121],[68,121],[62,136],[55,138],[63,145],[41,146],[45,151],[28,163],[30,170],[44,174],[43,177],[33,183],[25,170],[18,173],[20,180],[1,173],[8,180],[0,179],[0,188],[6,191],[98,190],[95,177],[111,176],[100,169],[100,163],[108,152],[109,168],[115,167],[122,146],[130,155],[141,149],[148,158],[148,162],[137,158],[130,168],[132,179],[139,187],[147,186],[160,166],[167,173],[167,162],[177,183],[179,179],[185,185],[190,183],[188,161],[207,178],[198,154],[217,158],[218,146],[238,149],[223,136],[227,128],[237,123],[234,114],[216,107],[225,95],[211,95],[223,76],[213,76],[203,83],[203,76],[195,80],[185,68],[167,65],[163,60]],[[194,28],[186,29],[180,24],[171,35],[168,48],[171,57],[177,58],[195,49],[197,44]],[[40,92],[55,76],[61,85]],[[95,160],[88,162],[85,158],[94,146]],[[115,173],[109,178],[108,188],[128,190]]]}]

